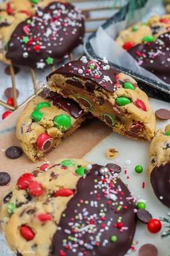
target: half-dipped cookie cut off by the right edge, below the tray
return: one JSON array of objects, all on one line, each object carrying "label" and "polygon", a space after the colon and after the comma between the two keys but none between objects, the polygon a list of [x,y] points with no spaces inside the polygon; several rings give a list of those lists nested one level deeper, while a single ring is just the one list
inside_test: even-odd
[{"label": "half-dipped cookie cut off by the right edge, below the tray", "polygon": [[153,191],[164,205],[170,208],[170,124],[165,132],[158,129],[150,147],[151,163],[148,166]]}]

